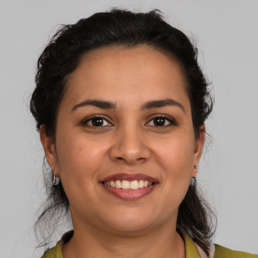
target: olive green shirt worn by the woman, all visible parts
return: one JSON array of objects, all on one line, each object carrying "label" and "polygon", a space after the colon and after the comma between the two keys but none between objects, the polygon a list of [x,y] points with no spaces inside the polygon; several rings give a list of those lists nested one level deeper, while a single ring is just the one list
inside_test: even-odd
[{"label": "olive green shirt worn by the woman, all visible parts", "polygon": [[[69,231],[62,236],[56,245],[43,254],[41,258],[62,258],[62,246],[73,236],[73,231]],[[198,248],[189,235],[184,234],[186,258],[202,258]],[[207,256],[206,256],[207,257]],[[233,251],[221,245],[215,244],[213,258],[258,258],[258,255],[241,251]]]}]

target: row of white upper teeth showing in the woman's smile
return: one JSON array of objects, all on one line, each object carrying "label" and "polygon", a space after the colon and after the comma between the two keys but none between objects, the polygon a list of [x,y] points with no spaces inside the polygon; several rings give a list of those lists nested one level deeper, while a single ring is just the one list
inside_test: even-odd
[{"label": "row of white upper teeth showing in the woman's smile", "polygon": [[134,181],[127,181],[127,180],[115,180],[115,181],[107,181],[104,182],[105,185],[115,187],[115,188],[122,188],[122,189],[132,189],[137,190],[138,188],[148,187],[152,185],[152,182],[147,180],[134,180]]}]

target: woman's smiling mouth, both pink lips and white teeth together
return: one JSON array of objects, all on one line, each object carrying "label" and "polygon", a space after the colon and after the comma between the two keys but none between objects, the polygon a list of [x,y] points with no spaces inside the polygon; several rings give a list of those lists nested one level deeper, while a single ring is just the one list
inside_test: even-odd
[{"label": "woman's smiling mouth, both pink lips and white teeth together", "polygon": [[137,200],[149,195],[158,180],[144,174],[115,174],[100,181],[108,192],[124,200]]}]

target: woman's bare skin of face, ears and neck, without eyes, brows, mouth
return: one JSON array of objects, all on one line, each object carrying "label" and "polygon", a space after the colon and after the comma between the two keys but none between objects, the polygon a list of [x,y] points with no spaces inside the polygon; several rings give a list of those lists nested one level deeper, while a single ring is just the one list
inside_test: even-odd
[{"label": "woman's bare skin of face, ears and neck, without eyes, brows, mouth", "polygon": [[[167,98],[182,108],[142,109],[148,101]],[[88,99],[116,106],[74,108]],[[107,122],[94,127],[89,120],[93,115]],[[175,122],[156,126],[155,115]],[[175,60],[149,46],[87,53],[69,77],[58,108],[55,142],[44,126],[41,142],[70,202],[74,236],[63,246],[64,258],[185,257],[176,231],[177,212],[196,175],[204,133],[195,138],[184,78]],[[159,183],[143,198],[123,200],[99,183],[115,173],[143,173]]]}]

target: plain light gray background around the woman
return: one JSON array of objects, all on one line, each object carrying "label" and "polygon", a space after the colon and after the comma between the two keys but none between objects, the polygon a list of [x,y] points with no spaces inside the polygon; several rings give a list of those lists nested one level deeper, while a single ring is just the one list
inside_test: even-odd
[{"label": "plain light gray background around the woman", "polygon": [[258,253],[258,2],[9,0],[0,1],[0,257],[41,254],[32,225],[44,198],[43,152],[27,107],[37,57],[55,25],[114,6],[160,9],[196,36],[216,98],[198,175],[218,214],[214,242]]}]

